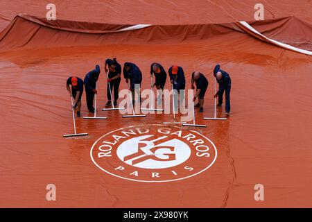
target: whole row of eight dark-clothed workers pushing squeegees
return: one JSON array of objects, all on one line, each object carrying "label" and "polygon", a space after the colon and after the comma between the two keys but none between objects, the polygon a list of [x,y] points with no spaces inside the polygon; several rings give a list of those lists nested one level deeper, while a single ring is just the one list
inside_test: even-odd
[{"label": "whole row of eight dark-clothed workers pushing squeegees", "polygon": [[[116,58],[105,60],[105,72],[107,75],[107,103],[105,107],[110,107],[112,105],[112,96],[111,92],[114,92],[114,106],[117,105],[117,100],[119,99],[119,85],[121,83],[121,65],[117,62]],[[98,76],[101,73],[99,65],[96,65],[96,68],[85,76],[85,79],[82,80],[76,76],[71,76],[67,79],[67,90],[69,94],[73,97],[73,108],[77,110],[77,117],[80,117],[80,108],[81,108],[81,96],[83,95],[83,90],[85,87],[85,92],[87,96],[87,108],[89,112],[94,113],[94,94],[97,94],[96,82]],[[168,74],[171,80],[173,89],[177,90],[180,93],[180,90],[185,89],[185,75],[182,67],[171,66],[168,69]],[[164,89],[166,84],[167,74],[162,67],[157,62],[154,62],[150,65],[150,77],[155,76],[155,83],[153,87],[157,89]],[[141,87],[143,75],[134,63],[125,62],[123,66],[123,77],[125,82],[128,83],[129,89],[132,92],[132,98],[135,94],[135,85],[138,84]],[[230,101],[229,94],[231,91],[231,78],[227,72],[220,69],[220,65],[216,65],[214,68],[214,77],[216,78],[219,89],[218,92],[214,95],[215,98],[218,97],[217,107],[221,107],[223,103],[223,94],[225,92],[225,111],[229,115],[230,111]],[[207,78],[204,74],[194,71],[191,76],[191,88],[195,89],[194,83],[196,84],[196,94],[194,95],[194,101],[198,99],[195,107],[200,108],[199,112],[203,112],[204,98],[209,85]],[[71,86],[71,87],[70,87]],[[160,98],[157,98],[160,101]]]}]

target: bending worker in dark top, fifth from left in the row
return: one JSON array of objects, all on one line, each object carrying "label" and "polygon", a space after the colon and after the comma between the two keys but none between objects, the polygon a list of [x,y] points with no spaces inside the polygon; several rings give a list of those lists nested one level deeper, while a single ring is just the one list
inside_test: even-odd
[{"label": "bending worker in dark top, fifth from left in the row", "polygon": [[[167,74],[164,70],[164,67],[157,62],[154,62],[150,65],[150,78],[153,78],[153,74],[155,75],[155,83],[153,87],[156,87],[157,90],[162,89],[164,91],[164,85],[166,84]],[[159,94],[157,101],[161,102],[162,94]]]}]

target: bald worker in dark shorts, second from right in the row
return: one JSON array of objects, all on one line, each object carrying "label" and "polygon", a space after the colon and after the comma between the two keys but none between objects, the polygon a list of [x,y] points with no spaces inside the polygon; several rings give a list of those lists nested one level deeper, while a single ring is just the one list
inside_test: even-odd
[{"label": "bald worker in dark shorts, second from right in the row", "polygon": [[196,99],[198,99],[198,103],[195,105],[196,108],[200,108],[199,112],[204,112],[204,98],[205,93],[208,88],[208,80],[204,76],[204,74],[201,74],[199,71],[194,71],[192,74],[192,80],[191,80],[191,87],[194,89],[194,83],[196,83],[196,94],[194,96],[194,102]]}]

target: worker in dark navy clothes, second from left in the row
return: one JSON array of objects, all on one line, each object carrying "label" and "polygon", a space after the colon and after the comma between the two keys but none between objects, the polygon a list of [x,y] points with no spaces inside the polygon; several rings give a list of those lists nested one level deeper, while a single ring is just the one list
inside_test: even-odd
[{"label": "worker in dark navy clothes, second from left in the row", "polygon": [[87,108],[89,112],[94,113],[94,94],[97,94],[96,90],[96,82],[98,80],[98,76],[100,75],[100,66],[96,65],[96,68],[90,71],[86,76],[85,76],[85,94],[87,96]]}]

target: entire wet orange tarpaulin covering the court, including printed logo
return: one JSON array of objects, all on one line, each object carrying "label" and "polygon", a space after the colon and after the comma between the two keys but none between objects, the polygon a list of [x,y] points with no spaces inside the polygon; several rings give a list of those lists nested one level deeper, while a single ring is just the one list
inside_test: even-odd
[{"label": "entire wet orange tarpaulin covering the court, including printed logo", "polygon": [[[47,1],[1,0],[0,207],[312,207],[311,1],[264,1],[264,21],[255,3],[55,1],[48,21]],[[193,71],[205,74],[205,111],[195,114],[207,128],[101,111],[107,58],[134,62],[141,89],[153,62],[183,67],[186,89]],[[97,64],[96,114],[107,119],[83,119],[92,117],[84,92],[76,130],[88,135],[63,138],[73,133],[65,82]],[[216,64],[232,78],[225,121],[203,119],[214,117]]]}]

